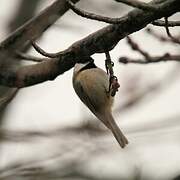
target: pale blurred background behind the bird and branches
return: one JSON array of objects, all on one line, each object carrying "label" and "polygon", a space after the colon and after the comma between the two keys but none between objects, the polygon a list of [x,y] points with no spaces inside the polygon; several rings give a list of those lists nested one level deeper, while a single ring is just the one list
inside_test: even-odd
[{"label": "pale blurred background behind the bird and branches", "polygon": [[[51,3],[52,0],[1,0],[0,40]],[[120,17],[132,9],[111,0],[86,0],[78,7],[110,17]],[[47,52],[58,52],[104,26],[107,24],[68,11],[37,43]],[[165,28],[148,28],[166,37]],[[178,27],[171,31],[179,35]],[[151,55],[179,52],[178,45],[162,42],[145,29],[131,38]],[[27,51],[40,56],[33,49]],[[0,105],[0,179],[180,179],[180,64],[120,64],[119,57],[141,57],[126,39],[110,54],[121,85],[113,114],[129,145],[121,149],[80,102],[72,88],[70,70],[52,82],[23,88],[10,102]],[[105,69],[104,54],[93,58]],[[25,64],[22,61],[16,65]],[[8,88],[1,87],[0,103],[7,92]]]}]

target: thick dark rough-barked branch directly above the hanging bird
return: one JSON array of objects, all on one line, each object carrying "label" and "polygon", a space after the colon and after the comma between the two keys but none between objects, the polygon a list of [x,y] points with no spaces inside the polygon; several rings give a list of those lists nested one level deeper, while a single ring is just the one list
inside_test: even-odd
[{"label": "thick dark rough-barked branch directly above the hanging bird", "polygon": [[[159,2],[161,1],[154,0],[150,4],[159,4]],[[129,12],[128,15],[121,18],[119,24],[104,27],[84,39],[75,42],[68,49],[64,50],[57,59],[24,66],[14,71],[5,68],[1,69],[0,84],[11,87],[25,87],[47,80],[53,80],[58,75],[71,69],[76,62],[87,62],[89,61],[89,56],[92,54],[104,52],[104,43],[106,44],[107,50],[111,50],[127,35],[144,28],[147,24],[157,19],[169,17],[178,12],[180,10],[180,3],[179,0],[168,0],[163,1],[159,7],[158,12],[141,11],[139,9]],[[51,9],[51,6],[49,9]],[[47,14],[49,14],[49,12],[47,12]],[[24,26],[21,31],[25,31],[24,29],[26,29],[26,26]],[[23,38],[20,36],[21,40],[15,41],[16,44],[27,40],[26,38],[29,33],[30,32],[25,31]],[[14,38],[15,37],[18,39],[17,34]],[[10,41],[9,39],[2,43],[3,46],[1,45],[1,48],[4,47],[4,45],[7,47],[7,42]],[[9,45],[9,47],[11,46]]]}]

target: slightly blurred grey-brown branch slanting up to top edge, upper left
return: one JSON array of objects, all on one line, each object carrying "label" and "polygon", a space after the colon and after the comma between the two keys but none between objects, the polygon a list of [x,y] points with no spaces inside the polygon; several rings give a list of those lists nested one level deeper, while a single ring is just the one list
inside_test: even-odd
[{"label": "slightly blurred grey-brown branch slanting up to top edge, upper left", "polygon": [[[73,2],[78,1],[73,0]],[[28,43],[29,39],[35,40],[68,9],[66,0],[56,0],[51,6],[21,26],[17,31],[14,31],[14,33],[3,41],[0,44],[0,53],[4,51],[17,51]]]}]

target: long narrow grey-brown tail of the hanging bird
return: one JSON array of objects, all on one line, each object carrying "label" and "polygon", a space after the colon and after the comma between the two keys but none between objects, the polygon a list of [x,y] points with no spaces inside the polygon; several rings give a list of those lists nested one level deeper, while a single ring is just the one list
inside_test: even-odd
[{"label": "long narrow grey-brown tail of the hanging bird", "polygon": [[112,114],[106,113],[103,122],[111,130],[119,145],[124,148],[128,144],[128,140],[116,124]]}]

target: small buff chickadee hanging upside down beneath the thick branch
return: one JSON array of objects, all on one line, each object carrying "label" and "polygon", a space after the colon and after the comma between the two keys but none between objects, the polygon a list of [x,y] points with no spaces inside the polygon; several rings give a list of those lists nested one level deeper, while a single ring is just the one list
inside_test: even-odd
[{"label": "small buff chickadee hanging upside down beneath the thick branch", "polygon": [[84,64],[76,63],[73,87],[81,101],[111,130],[119,145],[124,148],[128,140],[112,116],[113,97],[109,92],[107,73],[98,68],[93,60]]}]

